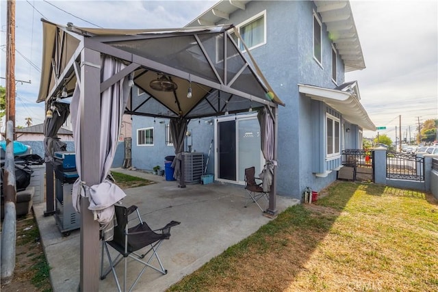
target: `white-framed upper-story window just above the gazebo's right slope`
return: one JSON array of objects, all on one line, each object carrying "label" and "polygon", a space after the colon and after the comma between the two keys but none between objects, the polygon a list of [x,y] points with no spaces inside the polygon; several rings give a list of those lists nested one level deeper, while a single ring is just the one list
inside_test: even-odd
[{"label": "white-framed upper-story window just above the gazebo's right slope", "polygon": [[[248,49],[266,44],[266,10],[240,23],[240,25],[236,25],[236,28]],[[245,51],[244,45],[237,39],[237,36],[231,33],[231,37],[238,44],[239,49]]]}]

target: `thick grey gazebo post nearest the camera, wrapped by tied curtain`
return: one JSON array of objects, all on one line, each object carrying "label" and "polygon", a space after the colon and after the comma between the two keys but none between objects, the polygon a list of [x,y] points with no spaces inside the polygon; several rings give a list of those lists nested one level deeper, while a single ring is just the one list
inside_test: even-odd
[{"label": "thick grey gazebo post nearest the camera, wrapped by tied curtain", "polygon": [[[101,53],[81,52],[81,178],[86,185],[100,181]],[[81,198],[80,291],[99,291],[99,223],[88,210],[88,198]]]}]

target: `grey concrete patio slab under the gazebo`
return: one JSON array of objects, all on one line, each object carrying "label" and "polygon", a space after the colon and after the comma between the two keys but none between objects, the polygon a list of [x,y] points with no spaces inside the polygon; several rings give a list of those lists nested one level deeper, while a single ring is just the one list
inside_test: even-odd
[{"label": "grey concrete patio slab under the gazebo", "polygon": [[[123,204],[136,204],[142,219],[151,228],[160,228],[175,220],[181,222],[171,230],[171,237],[159,248],[159,256],[168,274],[162,275],[146,269],[133,291],[165,291],[183,276],[221,254],[229,246],[248,237],[264,224],[270,222],[256,204],[246,204],[243,186],[224,183],[187,185],[181,189],[177,181],[166,181],[163,176],[118,168],[114,171],[140,176],[156,183],[145,187],[125,189],[127,197]],[[298,200],[278,196],[277,209],[298,204]],[[266,202],[265,207],[268,206]],[[34,205],[34,214],[40,229],[41,242],[51,267],[50,278],[53,291],[77,291],[79,287],[79,230],[67,237],[56,226],[53,216],[44,217],[45,203]],[[123,265],[118,267],[120,281]],[[128,287],[141,266],[129,261]],[[116,291],[112,274],[99,280],[99,291]]]}]

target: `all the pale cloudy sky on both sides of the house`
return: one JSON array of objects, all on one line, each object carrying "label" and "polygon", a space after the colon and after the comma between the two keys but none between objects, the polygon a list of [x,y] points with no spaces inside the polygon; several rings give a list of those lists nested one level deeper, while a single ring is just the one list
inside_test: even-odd
[{"label": "all the pale cloudy sky on both sides of the house", "polygon": [[[37,104],[42,55],[40,18],[83,27],[183,27],[216,1],[16,1],[16,124],[44,122]],[[0,76],[5,76],[6,1],[1,1]],[[398,116],[402,131],[438,118],[437,1],[350,1],[365,65],[346,81],[359,81],[361,103],[376,126],[393,140]],[[55,7],[56,6],[56,7]],[[29,64],[30,61],[32,64]],[[5,80],[0,79],[5,85]],[[365,131],[365,137],[376,132]]]}]

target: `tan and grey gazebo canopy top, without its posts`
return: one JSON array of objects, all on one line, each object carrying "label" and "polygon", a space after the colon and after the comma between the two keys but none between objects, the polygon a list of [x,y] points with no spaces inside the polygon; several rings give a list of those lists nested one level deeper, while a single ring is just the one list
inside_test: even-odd
[{"label": "tan and grey gazebo canopy top, without its posts", "polygon": [[[120,59],[127,68],[101,83],[101,92],[129,75],[144,92],[125,114],[186,119],[284,105],[257,64],[248,62],[228,31],[233,25],[179,29],[94,29],[42,20],[43,56],[38,101],[71,95],[83,47]],[[152,87],[151,87],[152,86]],[[191,97],[189,98],[191,93]]]}]

